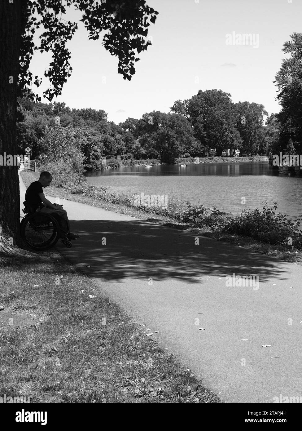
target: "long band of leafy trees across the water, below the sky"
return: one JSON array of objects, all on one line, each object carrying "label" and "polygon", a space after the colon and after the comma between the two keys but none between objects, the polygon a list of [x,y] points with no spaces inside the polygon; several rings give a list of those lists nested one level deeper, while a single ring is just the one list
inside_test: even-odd
[{"label": "long band of leafy trees across the water, below the sky", "polygon": [[70,109],[64,102],[33,102],[25,96],[19,99],[19,151],[29,146],[35,159],[59,159],[65,142],[81,153],[85,169],[102,169],[102,156],[169,163],[181,155],[213,155],[211,149],[217,155],[226,148],[233,155],[235,150],[266,151],[267,126],[262,124],[267,112],[261,104],[232,103],[221,90],[200,90],[191,99],[177,100],[170,111],[146,112],[116,125],[103,109]]}]

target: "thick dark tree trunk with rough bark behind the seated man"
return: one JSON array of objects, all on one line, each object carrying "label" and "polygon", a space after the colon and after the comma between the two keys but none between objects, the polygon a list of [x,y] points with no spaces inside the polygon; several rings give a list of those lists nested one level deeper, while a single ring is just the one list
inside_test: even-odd
[{"label": "thick dark tree trunk with rough bark behind the seated man", "polygon": [[26,1],[0,1],[0,163],[3,165],[0,166],[0,253],[9,255],[25,253],[18,247],[21,242],[18,167],[6,166],[6,155],[12,155],[13,160],[15,156],[16,163],[21,2]]}]

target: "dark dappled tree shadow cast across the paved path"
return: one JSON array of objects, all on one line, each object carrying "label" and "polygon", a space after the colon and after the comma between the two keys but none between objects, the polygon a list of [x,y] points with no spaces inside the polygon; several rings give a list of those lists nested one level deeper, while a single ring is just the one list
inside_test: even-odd
[{"label": "dark dappled tree shadow cast across the paved path", "polygon": [[[58,248],[85,273],[106,281],[125,278],[200,283],[206,275],[259,275],[259,281],[288,280],[290,265],[196,234],[145,221],[71,221],[81,235],[72,248]],[[106,244],[105,243],[106,239]],[[282,263],[280,265],[280,263]],[[90,265],[90,266],[88,266]]]}]

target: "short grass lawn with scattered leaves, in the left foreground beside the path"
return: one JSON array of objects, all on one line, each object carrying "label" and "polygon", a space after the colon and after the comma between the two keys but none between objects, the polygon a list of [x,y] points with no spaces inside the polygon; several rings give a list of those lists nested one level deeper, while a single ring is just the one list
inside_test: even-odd
[{"label": "short grass lawn with scattered leaves, in the left foreground beside the path", "polygon": [[222,402],[58,253],[2,257],[0,280],[1,396],[31,403]]}]

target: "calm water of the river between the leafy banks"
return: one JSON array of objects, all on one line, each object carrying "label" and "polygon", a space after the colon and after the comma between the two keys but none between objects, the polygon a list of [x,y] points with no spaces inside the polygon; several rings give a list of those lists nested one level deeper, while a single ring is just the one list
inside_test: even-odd
[{"label": "calm water of the river between the leafy banks", "polygon": [[168,195],[201,202],[238,214],[244,199],[247,208],[263,208],[278,203],[278,211],[293,216],[302,214],[302,176],[287,177],[265,161],[240,163],[200,163],[186,167],[159,165],[133,166],[86,172],[88,184],[108,187],[111,192]]}]

